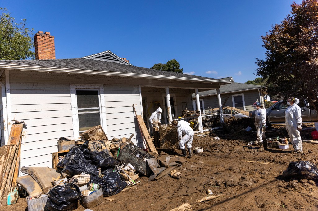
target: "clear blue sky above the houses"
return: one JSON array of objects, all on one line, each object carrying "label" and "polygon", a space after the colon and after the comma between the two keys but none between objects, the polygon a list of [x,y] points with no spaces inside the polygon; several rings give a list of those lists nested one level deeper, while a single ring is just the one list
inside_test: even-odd
[{"label": "clear blue sky above the houses", "polygon": [[[296,0],[296,3],[301,3]],[[12,1],[17,21],[55,36],[56,58],[111,50],[139,67],[179,61],[184,73],[255,79],[260,36],[290,12],[291,0]]]}]

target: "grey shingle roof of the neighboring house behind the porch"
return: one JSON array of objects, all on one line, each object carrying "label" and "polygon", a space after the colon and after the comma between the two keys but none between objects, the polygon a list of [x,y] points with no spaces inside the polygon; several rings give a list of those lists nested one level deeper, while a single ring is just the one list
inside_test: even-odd
[{"label": "grey shingle roof of the neighboring house behind the porch", "polygon": [[[220,86],[220,93],[235,92],[235,91],[239,92],[242,90],[258,89],[261,87],[263,87],[263,86],[234,82],[232,84],[225,84],[225,85]],[[199,92],[199,96],[212,95],[212,94],[216,94],[216,93],[217,93],[216,89],[207,90],[207,91]],[[192,94],[192,97],[195,97],[195,94]]]}]

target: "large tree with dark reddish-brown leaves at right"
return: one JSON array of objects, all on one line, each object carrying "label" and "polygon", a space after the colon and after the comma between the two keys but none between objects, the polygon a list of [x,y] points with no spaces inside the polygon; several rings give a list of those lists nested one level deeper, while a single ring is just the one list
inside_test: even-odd
[{"label": "large tree with dark reddish-brown leaves at right", "polygon": [[262,36],[265,59],[256,75],[268,78],[269,93],[308,99],[318,111],[318,1],[293,3],[287,17]]}]

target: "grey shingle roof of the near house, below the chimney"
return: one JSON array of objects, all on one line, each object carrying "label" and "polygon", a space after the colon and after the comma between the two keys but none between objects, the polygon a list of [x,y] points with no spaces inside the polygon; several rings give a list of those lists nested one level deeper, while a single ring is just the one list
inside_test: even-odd
[{"label": "grey shingle roof of the near house, below the chimney", "polygon": [[80,69],[80,70],[94,70],[94,71],[107,71],[114,73],[131,73],[131,74],[150,74],[158,76],[174,76],[191,79],[210,79],[213,78],[201,77],[196,75],[187,75],[174,72],[167,72],[155,69],[149,69],[144,67],[136,67],[125,64],[119,64],[108,61],[99,61],[93,59],[55,59],[55,60],[0,60],[0,64],[14,64],[14,65],[26,65],[36,67],[55,67],[66,69]]}]

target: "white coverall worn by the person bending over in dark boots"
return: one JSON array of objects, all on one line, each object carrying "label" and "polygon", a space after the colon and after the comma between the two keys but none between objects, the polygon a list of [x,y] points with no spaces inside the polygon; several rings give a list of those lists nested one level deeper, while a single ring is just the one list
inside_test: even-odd
[{"label": "white coverall worn by the person bending over in dark boots", "polygon": [[[187,144],[187,148],[191,148],[194,132],[190,127],[190,123],[184,120],[180,120],[178,121],[178,125],[176,127],[180,149],[185,149],[184,144]],[[182,137],[182,133],[184,133],[184,137]]]}]

